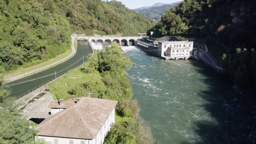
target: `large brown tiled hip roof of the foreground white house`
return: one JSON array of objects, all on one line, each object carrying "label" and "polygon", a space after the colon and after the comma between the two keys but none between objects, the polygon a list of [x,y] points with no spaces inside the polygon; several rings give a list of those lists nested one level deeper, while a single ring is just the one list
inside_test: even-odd
[{"label": "large brown tiled hip roof of the foreground white house", "polygon": [[41,122],[38,135],[94,139],[117,101],[82,97],[79,103]]}]

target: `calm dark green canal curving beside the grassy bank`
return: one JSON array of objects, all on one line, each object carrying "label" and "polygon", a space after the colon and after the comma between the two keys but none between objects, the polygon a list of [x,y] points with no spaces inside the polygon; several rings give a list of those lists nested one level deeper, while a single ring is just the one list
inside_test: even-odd
[{"label": "calm dark green canal curving beside the grassy bank", "polygon": [[[66,72],[67,70],[70,70],[74,67],[76,67],[79,64],[83,63],[83,56],[88,56],[88,54],[92,53],[92,49],[90,48],[90,45],[87,41],[78,41],[78,46],[76,50],[76,54],[66,60],[65,62],[62,62],[56,66],[53,66],[51,68],[48,68],[42,72],[38,72],[36,74],[32,74],[30,76],[26,76],[24,78],[20,78],[18,80],[14,80],[12,82],[8,82],[7,85],[9,85],[10,88],[10,96],[20,96],[21,94],[24,94],[28,90],[35,88],[36,86],[39,86],[40,84],[55,78],[55,72],[56,76],[59,74],[62,74]],[[84,61],[86,61],[87,58],[84,58]]]}]

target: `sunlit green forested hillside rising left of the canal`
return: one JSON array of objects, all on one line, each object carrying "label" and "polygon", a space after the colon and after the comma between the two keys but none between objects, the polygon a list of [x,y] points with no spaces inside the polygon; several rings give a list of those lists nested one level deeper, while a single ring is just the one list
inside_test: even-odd
[{"label": "sunlit green forested hillside rising left of the canal", "polygon": [[65,52],[74,32],[129,36],[151,26],[117,1],[0,0],[0,73]]}]

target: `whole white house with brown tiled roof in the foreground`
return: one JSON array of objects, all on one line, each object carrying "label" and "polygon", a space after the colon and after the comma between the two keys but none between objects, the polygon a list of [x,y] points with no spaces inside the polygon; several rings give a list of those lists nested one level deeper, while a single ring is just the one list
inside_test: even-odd
[{"label": "whole white house with brown tiled roof in the foreground", "polygon": [[36,139],[52,144],[102,144],[115,122],[116,104],[90,96],[52,101],[52,115],[36,127]]}]

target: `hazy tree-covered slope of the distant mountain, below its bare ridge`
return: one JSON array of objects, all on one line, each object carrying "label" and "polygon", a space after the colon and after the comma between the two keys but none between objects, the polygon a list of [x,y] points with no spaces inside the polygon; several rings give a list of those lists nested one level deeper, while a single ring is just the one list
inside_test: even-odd
[{"label": "hazy tree-covered slope of the distant mountain, below its bare ridge", "polygon": [[159,21],[161,19],[161,16],[164,14],[164,12],[170,8],[173,8],[177,6],[177,4],[165,4],[164,6],[158,6],[158,7],[153,7],[149,9],[141,9],[141,10],[136,10],[136,12],[143,14],[144,16],[154,20],[154,21]]}]

